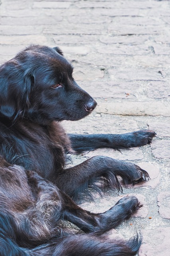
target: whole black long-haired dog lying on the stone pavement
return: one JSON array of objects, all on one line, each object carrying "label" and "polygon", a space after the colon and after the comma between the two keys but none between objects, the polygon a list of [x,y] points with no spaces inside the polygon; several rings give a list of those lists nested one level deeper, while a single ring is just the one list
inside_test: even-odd
[{"label": "whole black long-haired dog lying on the stone pavement", "polygon": [[[31,46],[0,67],[1,256],[131,256],[141,244],[139,236],[124,242],[104,235],[141,207],[134,196],[101,214],[83,210],[71,198],[98,180],[120,190],[118,176],[135,184],[148,180],[147,172],[103,156],[64,169],[64,158],[98,147],[142,146],[155,133],[67,136],[59,122],[84,118],[96,107],[72,71],[59,48],[46,46]],[[62,228],[61,219],[84,234]]]}]

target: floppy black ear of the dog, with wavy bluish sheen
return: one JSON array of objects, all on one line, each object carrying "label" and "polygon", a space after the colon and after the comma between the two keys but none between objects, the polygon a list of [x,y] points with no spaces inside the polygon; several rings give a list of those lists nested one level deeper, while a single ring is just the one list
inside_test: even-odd
[{"label": "floppy black ear of the dog, with wavy bluish sheen", "polygon": [[0,112],[15,118],[29,108],[34,76],[20,66],[7,62],[0,68]]}]

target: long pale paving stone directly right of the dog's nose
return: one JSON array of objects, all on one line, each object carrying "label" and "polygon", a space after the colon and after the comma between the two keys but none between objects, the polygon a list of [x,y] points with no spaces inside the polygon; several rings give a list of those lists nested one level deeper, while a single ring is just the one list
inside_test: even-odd
[{"label": "long pale paving stone directly right of the dog's nose", "polygon": [[163,102],[130,102],[129,100],[125,102],[126,108],[123,100],[114,103],[98,102],[95,111],[123,116],[170,116],[170,107]]}]

